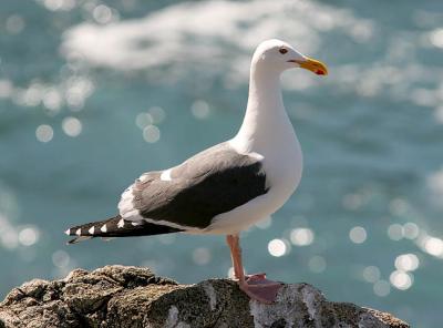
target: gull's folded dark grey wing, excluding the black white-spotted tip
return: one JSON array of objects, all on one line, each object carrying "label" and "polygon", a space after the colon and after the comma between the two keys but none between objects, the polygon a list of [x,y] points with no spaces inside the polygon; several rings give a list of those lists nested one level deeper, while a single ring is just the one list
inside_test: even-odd
[{"label": "gull's folded dark grey wing, excluding the black white-spotted tip", "polygon": [[120,214],[175,227],[205,228],[214,216],[266,194],[266,174],[256,157],[228,143],[213,146],[172,168],[143,174],[122,195]]}]

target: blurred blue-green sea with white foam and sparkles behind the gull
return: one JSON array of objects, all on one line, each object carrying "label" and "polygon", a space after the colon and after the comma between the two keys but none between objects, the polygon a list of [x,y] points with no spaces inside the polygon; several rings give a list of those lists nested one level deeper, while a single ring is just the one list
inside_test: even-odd
[{"label": "blurred blue-green sea with white foam and sparkles behind the gull", "polygon": [[[248,271],[441,325],[443,2],[0,2],[0,298],[106,264],[181,283],[228,274],[223,237],[65,246],[140,174],[231,137],[267,38],[324,61],[282,78],[297,193],[245,233]],[[439,322],[439,324],[437,324]]]}]

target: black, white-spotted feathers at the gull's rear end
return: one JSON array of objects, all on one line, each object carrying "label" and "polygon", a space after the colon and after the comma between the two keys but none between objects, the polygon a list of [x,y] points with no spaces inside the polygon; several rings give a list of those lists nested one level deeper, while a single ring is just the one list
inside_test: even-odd
[{"label": "black, white-spotted feathers at the gull's rear end", "polygon": [[125,221],[120,215],[104,221],[91,222],[65,230],[68,236],[75,236],[68,244],[75,244],[94,237],[134,237],[178,233],[181,229],[147,222]]}]

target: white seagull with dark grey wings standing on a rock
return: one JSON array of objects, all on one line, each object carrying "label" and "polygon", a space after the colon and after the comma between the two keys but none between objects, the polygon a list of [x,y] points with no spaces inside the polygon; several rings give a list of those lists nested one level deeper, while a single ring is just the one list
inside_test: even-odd
[{"label": "white seagull with dark grey wings standing on a rock", "polygon": [[225,235],[239,288],[251,299],[275,301],[281,284],[246,275],[240,232],[279,209],[299,185],[302,153],[285,110],[280,75],[327,66],[289,43],[261,42],[250,65],[249,96],[238,133],[177,166],[142,174],[121,196],[119,214],[69,228],[69,244],[93,237],[171,233]]}]

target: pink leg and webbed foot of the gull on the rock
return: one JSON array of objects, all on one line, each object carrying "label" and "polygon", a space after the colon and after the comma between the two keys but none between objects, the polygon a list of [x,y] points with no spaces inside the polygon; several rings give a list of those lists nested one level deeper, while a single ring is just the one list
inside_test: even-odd
[{"label": "pink leg and webbed foot of the gull on the rock", "polygon": [[230,248],[233,259],[234,275],[238,279],[238,285],[251,299],[265,304],[271,304],[276,300],[277,293],[281,284],[266,279],[265,274],[245,276],[241,264],[241,248],[238,235],[227,235],[226,243]]}]

